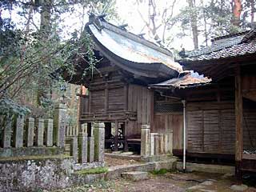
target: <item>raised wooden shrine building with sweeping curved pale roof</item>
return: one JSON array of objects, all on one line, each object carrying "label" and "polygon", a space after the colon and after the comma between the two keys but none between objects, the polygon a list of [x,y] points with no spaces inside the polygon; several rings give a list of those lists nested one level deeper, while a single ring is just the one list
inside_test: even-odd
[{"label": "raised wooden shrine building with sweeping curved pale roof", "polygon": [[156,132],[165,129],[154,126],[154,118],[158,123],[162,118],[154,116],[154,91],[148,85],[178,77],[182,66],[169,50],[102,17],[91,15],[86,31],[99,62],[83,76],[88,63],[77,58],[76,73],[65,77],[88,89],[89,94],[81,95],[79,121],[87,123],[89,134],[92,122],[104,122],[106,146],[114,142],[114,150],[118,145],[128,150],[128,144],[140,144],[142,125]]}]

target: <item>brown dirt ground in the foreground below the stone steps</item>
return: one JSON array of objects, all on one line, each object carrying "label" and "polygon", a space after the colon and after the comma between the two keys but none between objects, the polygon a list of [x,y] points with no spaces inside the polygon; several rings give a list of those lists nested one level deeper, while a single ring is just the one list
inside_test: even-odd
[{"label": "brown dirt ground in the foreground below the stone steps", "polygon": [[[205,185],[203,185],[203,183]],[[163,175],[150,174],[145,181],[131,182],[125,179],[100,181],[92,185],[72,187],[67,191],[90,191],[90,192],[234,192],[230,186],[234,184],[234,178],[223,178],[223,174],[204,173],[167,173]],[[195,189],[190,189],[196,186]],[[200,186],[200,187],[198,187]],[[198,188],[197,188],[198,187]],[[249,187],[245,192],[256,192],[256,188]]]}]

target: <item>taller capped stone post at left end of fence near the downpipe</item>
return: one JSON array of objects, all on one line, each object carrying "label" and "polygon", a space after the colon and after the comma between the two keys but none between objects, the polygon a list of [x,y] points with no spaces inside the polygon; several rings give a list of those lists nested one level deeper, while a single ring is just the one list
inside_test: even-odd
[{"label": "taller capped stone post at left end of fence near the downpipe", "polygon": [[141,156],[150,156],[150,126],[142,125]]}]

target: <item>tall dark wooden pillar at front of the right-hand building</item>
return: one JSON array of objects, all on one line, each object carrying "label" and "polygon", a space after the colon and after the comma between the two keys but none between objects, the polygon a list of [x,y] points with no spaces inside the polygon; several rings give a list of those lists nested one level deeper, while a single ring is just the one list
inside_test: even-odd
[{"label": "tall dark wooden pillar at front of the right-hand building", "polygon": [[241,71],[237,66],[235,70],[235,174],[238,182],[242,182],[242,87]]}]

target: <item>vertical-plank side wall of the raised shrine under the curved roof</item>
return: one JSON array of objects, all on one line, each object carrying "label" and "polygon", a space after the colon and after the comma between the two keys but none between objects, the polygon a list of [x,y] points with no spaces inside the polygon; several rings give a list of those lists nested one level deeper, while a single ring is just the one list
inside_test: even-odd
[{"label": "vertical-plank side wall of the raised shrine under the curved roof", "polygon": [[150,125],[154,113],[154,92],[145,86],[129,84],[128,111],[137,112],[137,121],[130,121],[128,136],[141,134],[142,124]]}]

